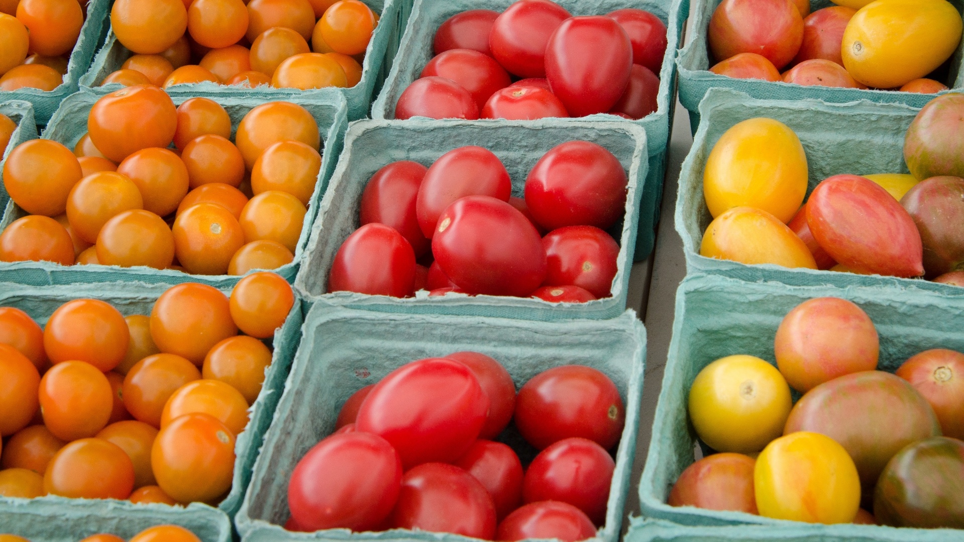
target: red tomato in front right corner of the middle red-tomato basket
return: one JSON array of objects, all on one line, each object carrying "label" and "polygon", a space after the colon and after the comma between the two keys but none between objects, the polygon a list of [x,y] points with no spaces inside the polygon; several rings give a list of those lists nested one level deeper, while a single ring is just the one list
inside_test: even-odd
[{"label": "red tomato in front right corner of the middle red-tomato basket", "polygon": [[609,297],[616,277],[619,245],[592,226],[567,226],[543,237],[549,265],[545,285],[580,286],[597,299]]}]

